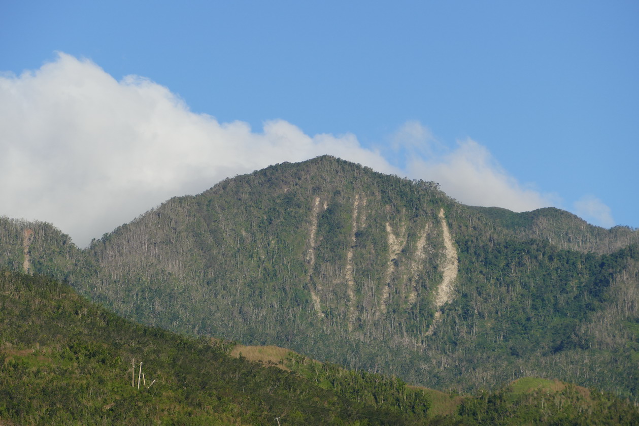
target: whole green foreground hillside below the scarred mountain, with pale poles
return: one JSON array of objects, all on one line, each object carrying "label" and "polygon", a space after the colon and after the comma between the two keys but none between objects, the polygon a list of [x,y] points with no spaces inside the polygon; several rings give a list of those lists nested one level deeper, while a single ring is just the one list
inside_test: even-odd
[{"label": "whole green foreground hillside below the scarred mountain, with pale poles", "polygon": [[[558,381],[525,379],[460,397],[318,363],[281,348],[185,338],[120,319],[42,276],[0,271],[0,307],[0,424],[267,425],[276,418],[282,425],[639,421],[636,407],[613,395]],[[274,360],[279,368],[249,361],[242,351],[264,364]]]}]

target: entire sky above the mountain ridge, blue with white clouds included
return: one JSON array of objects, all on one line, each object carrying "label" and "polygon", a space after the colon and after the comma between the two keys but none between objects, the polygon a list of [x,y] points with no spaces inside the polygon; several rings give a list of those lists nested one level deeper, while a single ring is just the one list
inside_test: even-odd
[{"label": "entire sky above the mountain ridge, blue with white clouds included", "polygon": [[0,215],[81,246],[170,196],[324,153],[469,204],[639,226],[636,1],[2,9],[0,176],[23,183]]}]

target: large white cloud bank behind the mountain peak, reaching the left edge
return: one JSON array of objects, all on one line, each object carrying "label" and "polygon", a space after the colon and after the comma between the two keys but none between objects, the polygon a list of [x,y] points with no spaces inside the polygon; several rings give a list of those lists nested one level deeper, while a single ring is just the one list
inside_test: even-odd
[{"label": "large white cloud bank behind the mountain peak, reaching the left edge", "polygon": [[219,123],[164,86],[116,81],[60,53],[35,72],[0,76],[0,216],[53,223],[81,247],[176,195],[282,161],[331,154],[383,173],[440,182],[463,203],[521,211],[553,205],[468,139],[446,150],[418,122],[390,145],[398,167],[352,134],[308,136],[284,120]]}]

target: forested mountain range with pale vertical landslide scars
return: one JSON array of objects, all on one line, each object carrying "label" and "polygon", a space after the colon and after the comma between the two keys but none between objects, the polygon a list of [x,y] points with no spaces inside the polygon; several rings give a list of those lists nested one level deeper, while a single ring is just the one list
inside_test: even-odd
[{"label": "forested mountain range with pale vertical landslide scars", "polygon": [[77,249],[0,220],[8,267],[143,324],[469,391],[525,376],[639,397],[639,232],[469,207],[318,157],[226,179]]}]

